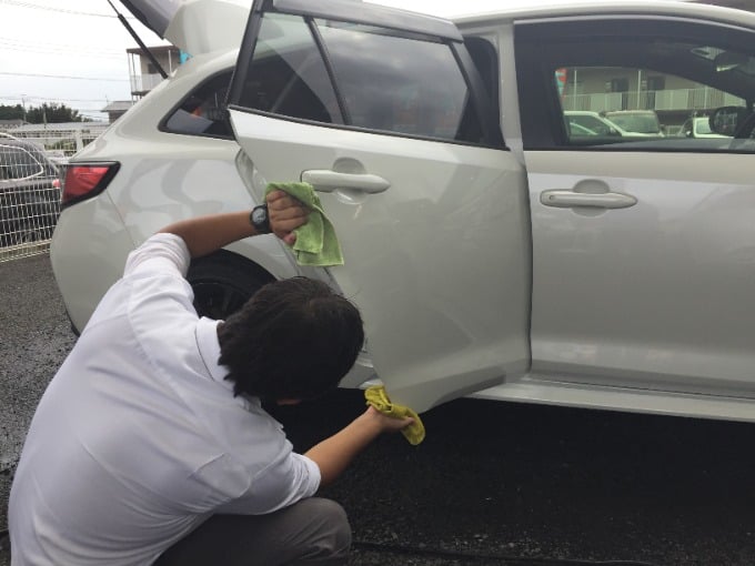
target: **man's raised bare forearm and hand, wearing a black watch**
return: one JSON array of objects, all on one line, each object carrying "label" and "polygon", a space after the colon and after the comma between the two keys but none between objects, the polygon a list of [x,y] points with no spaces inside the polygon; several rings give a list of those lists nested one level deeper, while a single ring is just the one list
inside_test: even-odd
[{"label": "man's raised bare forearm and hand, wearing a black watch", "polygon": [[[296,239],[293,231],[306,223],[306,209],[283,191],[271,192],[266,203],[273,233],[288,244],[293,244]],[[187,243],[191,256],[199,257],[236,240],[256,235],[254,226],[249,221],[249,212],[229,212],[182,220],[163,228],[160,232],[180,236]]]}]

